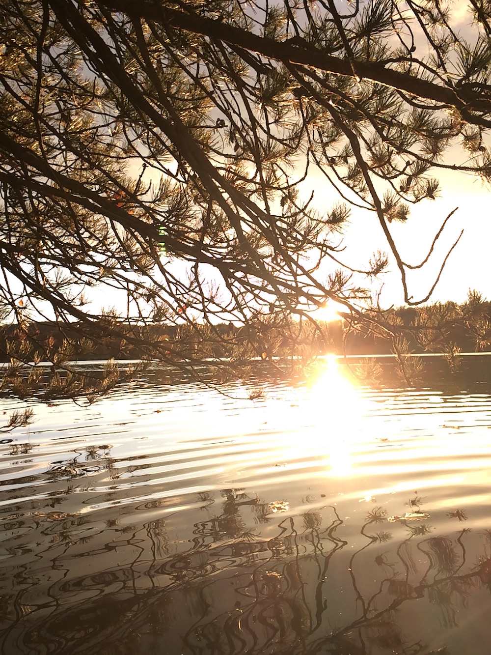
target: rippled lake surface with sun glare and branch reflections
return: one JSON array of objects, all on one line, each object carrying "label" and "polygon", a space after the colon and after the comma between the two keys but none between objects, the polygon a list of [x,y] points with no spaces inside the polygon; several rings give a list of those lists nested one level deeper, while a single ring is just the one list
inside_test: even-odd
[{"label": "rippled lake surface with sun glare and branch reflections", "polygon": [[331,362],[255,400],[153,371],[30,403],[0,435],[1,652],[488,655],[478,359],[409,390]]}]

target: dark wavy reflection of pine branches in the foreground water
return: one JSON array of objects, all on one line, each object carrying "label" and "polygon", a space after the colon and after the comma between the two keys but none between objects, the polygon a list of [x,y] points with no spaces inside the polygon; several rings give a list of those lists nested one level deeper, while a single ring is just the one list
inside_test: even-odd
[{"label": "dark wavy reflection of pine branches in the foreground water", "polygon": [[[488,637],[491,533],[458,513],[461,529],[439,535],[417,512],[388,523],[374,506],[356,528],[321,501],[299,515],[237,489],[194,500],[192,534],[159,500],[88,515],[9,508],[2,652],[488,652],[475,639]],[[141,512],[152,519],[126,522]]]}]

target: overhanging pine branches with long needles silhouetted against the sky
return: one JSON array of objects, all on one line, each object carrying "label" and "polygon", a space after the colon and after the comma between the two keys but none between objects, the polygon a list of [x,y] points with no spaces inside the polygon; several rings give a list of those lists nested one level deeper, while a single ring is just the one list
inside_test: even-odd
[{"label": "overhanging pine branches with long needles silhouetted against the sky", "polygon": [[[414,298],[407,273],[426,265],[448,217],[416,263],[390,224],[438,196],[443,168],[491,178],[491,13],[473,0],[469,10],[472,43],[441,3],[4,3],[0,310],[18,326],[12,385],[29,383],[16,366],[33,347],[34,365],[65,369],[115,339],[122,356],[137,346],[232,371],[285,339],[308,356],[299,331],[317,339],[311,312],[333,300],[390,331],[365,288],[389,261],[405,303],[426,302],[439,275]],[[330,207],[316,206],[312,172]],[[384,238],[355,267],[340,246],[351,208]],[[104,304],[124,311],[92,304],[100,283]],[[56,321],[58,348],[37,338],[42,318]],[[156,324],[179,339],[155,338]],[[224,349],[235,350],[227,363]],[[117,380],[74,375],[57,391]]]}]

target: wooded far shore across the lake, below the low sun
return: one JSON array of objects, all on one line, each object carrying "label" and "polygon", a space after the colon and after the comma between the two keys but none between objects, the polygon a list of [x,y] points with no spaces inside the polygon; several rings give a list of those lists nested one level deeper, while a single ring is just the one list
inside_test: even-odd
[{"label": "wooded far shore across the lake, below the low sun", "polygon": [[[30,359],[38,364],[47,359],[62,366],[73,360],[149,360],[152,345],[162,348],[166,344],[171,359],[175,347],[176,353],[187,352],[189,361],[202,361],[207,354],[203,343],[211,343],[210,358],[236,360],[308,359],[325,354],[363,357],[427,353],[451,357],[491,351],[491,303],[476,291],[469,291],[467,301],[460,305],[448,301],[399,307],[384,312],[382,320],[380,314],[372,316],[371,312],[357,317],[345,314],[330,322],[292,320],[287,335],[276,329],[274,317],[268,318],[261,316],[255,323],[238,327],[198,322],[130,326],[109,317],[107,337],[94,342],[85,326],[77,323],[63,327],[48,321],[10,324],[0,327],[0,362]],[[102,321],[98,323],[100,331],[103,326]]]}]

